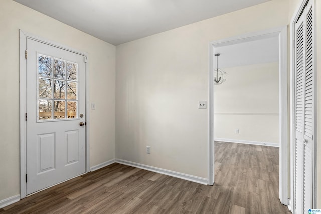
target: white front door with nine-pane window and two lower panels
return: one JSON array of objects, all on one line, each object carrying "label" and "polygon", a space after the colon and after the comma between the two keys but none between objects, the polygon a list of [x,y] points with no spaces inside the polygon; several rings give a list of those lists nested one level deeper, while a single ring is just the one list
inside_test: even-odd
[{"label": "white front door with nine-pane window and two lower panels", "polygon": [[84,56],[26,39],[27,195],[85,173]]}]

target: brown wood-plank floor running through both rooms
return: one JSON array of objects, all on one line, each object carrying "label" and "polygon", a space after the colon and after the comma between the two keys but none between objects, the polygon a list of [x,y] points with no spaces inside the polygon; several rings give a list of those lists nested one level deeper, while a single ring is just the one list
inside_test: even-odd
[{"label": "brown wood-plank floor running through both rooms", "polygon": [[114,163],[0,213],[290,213],[278,199],[278,152],[216,142],[214,186]]}]

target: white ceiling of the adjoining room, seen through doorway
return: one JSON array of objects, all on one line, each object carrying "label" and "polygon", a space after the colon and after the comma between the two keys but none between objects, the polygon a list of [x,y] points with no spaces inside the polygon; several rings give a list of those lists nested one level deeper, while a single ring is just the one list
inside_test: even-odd
[{"label": "white ceiling of the adjoining room, seen through doorway", "polygon": [[[219,68],[277,62],[279,60],[279,38],[273,36],[219,46],[214,48],[214,52],[220,53]],[[214,57],[213,65],[216,68],[216,57]]]}]

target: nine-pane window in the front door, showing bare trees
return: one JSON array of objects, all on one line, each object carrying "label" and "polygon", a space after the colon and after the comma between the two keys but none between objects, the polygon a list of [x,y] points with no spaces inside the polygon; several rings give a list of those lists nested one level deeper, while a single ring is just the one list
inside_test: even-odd
[{"label": "nine-pane window in the front door, showing bare trees", "polygon": [[39,120],[77,116],[77,72],[77,63],[38,56]]}]

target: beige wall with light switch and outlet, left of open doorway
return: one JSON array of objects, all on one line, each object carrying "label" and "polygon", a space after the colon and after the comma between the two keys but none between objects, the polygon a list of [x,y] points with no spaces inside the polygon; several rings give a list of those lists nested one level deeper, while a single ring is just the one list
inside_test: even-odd
[{"label": "beige wall with light switch and outlet, left of open doorway", "polygon": [[[211,41],[285,26],[274,0],[116,47],[116,157],[202,178],[208,174]],[[146,154],[146,146],[151,154]]]}]

